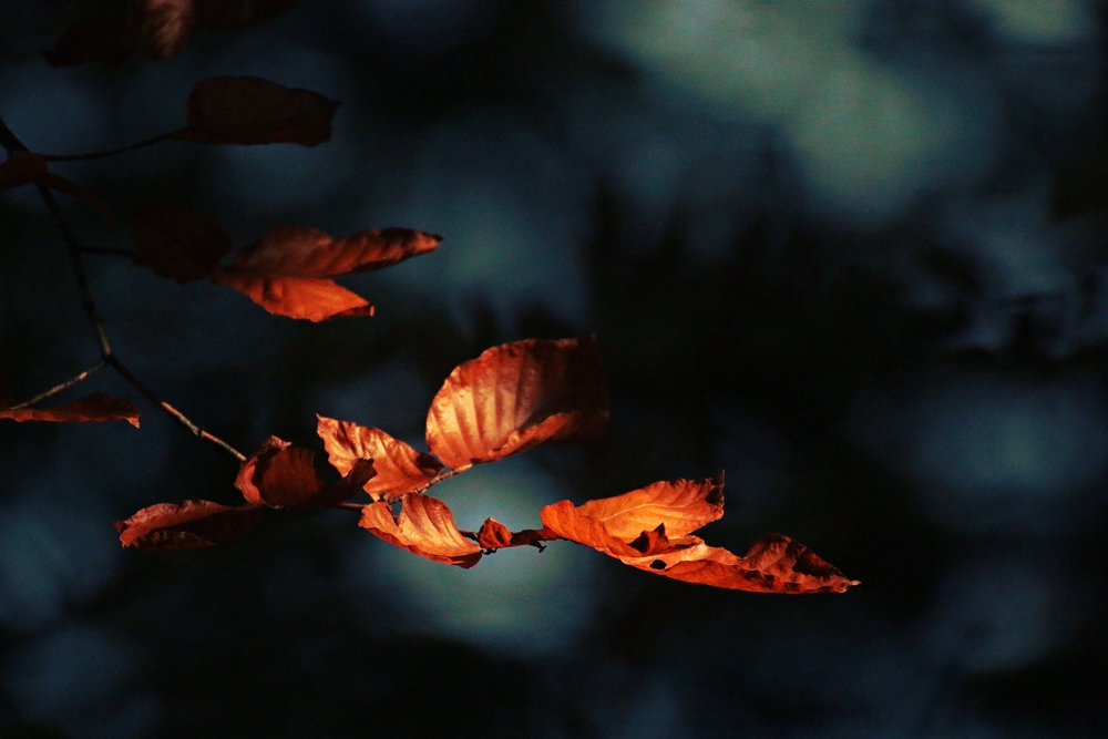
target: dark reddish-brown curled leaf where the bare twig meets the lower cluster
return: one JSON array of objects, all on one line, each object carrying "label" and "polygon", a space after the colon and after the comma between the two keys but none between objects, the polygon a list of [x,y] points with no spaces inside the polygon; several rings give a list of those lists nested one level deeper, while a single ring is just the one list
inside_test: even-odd
[{"label": "dark reddish-brown curled leaf where the bare twig meets the lower cluster", "polygon": [[352,497],[376,474],[373,460],[358,460],[341,481],[327,484],[316,474],[315,456],[310,450],[269,437],[242,463],[235,486],[253,505],[314,509]]}]

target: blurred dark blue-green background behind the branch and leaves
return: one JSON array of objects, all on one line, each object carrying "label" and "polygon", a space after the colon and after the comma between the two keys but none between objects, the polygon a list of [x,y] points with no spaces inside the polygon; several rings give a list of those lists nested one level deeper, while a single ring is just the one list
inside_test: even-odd
[{"label": "blurred dark blue-green background behind the branch and leaves", "polygon": [[[314,148],[54,165],[122,215],[64,199],[88,245],[130,248],[168,197],[238,246],[445,236],[345,280],[377,316],[322,325],[89,256],[113,346],[195,420],[240,449],[315,445],[315,413],[421,443],[455,365],[592,332],[608,432],[437,487],[463,526],[726,470],[710,543],[781,531],[863,584],[717,592],[568,543],[463,572],[343,511],[123,551],[138,507],[233,502],[234,460],[148,404],[138,431],[3,423],[0,737],[1102,736],[1102,3],[335,0],[52,69],[68,18],[0,13],[0,115],[34,151],[178,127],[217,74],[342,102]],[[0,195],[0,390],[96,358],[33,188]]]}]

